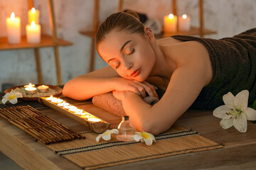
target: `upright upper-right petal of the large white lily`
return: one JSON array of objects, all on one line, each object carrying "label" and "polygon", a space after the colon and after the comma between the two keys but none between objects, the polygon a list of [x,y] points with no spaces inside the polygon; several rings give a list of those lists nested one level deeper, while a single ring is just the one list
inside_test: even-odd
[{"label": "upright upper-right petal of the large white lily", "polygon": [[240,91],[234,99],[234,105],[236,108],[241,109],[241,111],[245,111],[248,106],[248,98],[249,98],[249,91],[243,90]]}]

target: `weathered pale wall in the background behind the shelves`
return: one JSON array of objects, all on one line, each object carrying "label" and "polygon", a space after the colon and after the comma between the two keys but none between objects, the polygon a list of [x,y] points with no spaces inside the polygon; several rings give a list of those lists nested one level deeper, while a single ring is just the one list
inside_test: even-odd
[{"label": "weathered pale wall in the background behind the shelves", "polygon": [[[48,1],[34,0],[40,10],[43,33],[50,33],[48,21]],[[100,1],[100,21],[117,11],[117,0]],[[178,14],[191,16],[191,24],[198,26],[198,0],[177,0]],[[60,47],[63,83],[85,74],[89,69],[90,38],[80,35],[79,30],[92,28],[93,0],[54,0],[58,36],[74,44]],[[124,0],[124,8],[146,13],[149,18],[162,18],[171,13],[170,0]],[[25,34],[28,4],[26,0],[0,0],[0,37],[6,36],[6,18],[14,11],[21,17],[21,33]],[[256,27],[255,0],[204,0],[205,26],[218,33],[208,38],[223,38]],[[1,44],[0,44],[1,45]],[[42,48],[41,63],[45,84],[57,84],[53,49]],[[96,57],[96,69],[105,67],[100,57]],[[33,50],[0,51],[0,86],[37,82]]]}]

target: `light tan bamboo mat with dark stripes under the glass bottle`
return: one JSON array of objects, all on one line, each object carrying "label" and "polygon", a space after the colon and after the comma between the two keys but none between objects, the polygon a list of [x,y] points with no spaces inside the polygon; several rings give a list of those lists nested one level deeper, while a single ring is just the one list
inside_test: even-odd
[{"label": "light tan bamboo mat with dark stripes under the glass bottle", "polygon": [[115,139],[96,142],[97,134],[82,134],[85,140],[46,145],[60,157],[65,157],[82,169],[97,169],[129,162],[168,157],[188,152],[217,149],[223,145],[206,139],[194,130],[173,126],[167,132],[156,135],[156,142],[146,146],[142,142],[121,142]]}]

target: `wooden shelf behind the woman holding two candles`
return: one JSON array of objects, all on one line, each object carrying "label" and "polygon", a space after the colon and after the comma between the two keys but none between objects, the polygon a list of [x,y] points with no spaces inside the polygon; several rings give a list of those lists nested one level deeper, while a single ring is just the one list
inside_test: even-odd
[{"label": "wooden shelf behind the woman holding two candles", "polygon": [[[191,27],[191,30],[189,31],[177,31],[176,33],[164,33],[161,35],[155,35],[155,38],[166,38],[166,37],[171,37],[172,35],[200,35],[200,28],[196,27]],[[204,29],[203,30],[203,35],[209,35],[209,34],[215,34],[217,33],[216,31],[213,30],[208,30]]]}]

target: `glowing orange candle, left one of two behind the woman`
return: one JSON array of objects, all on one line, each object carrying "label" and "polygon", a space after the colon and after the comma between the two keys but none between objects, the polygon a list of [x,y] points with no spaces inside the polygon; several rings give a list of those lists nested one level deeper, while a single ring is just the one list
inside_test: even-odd
[{"label": "glowing orange candle, left one of two behind the woman", "polygon": [[164,16],[164,33],[175,33],[177,30],[177,16]]}]

